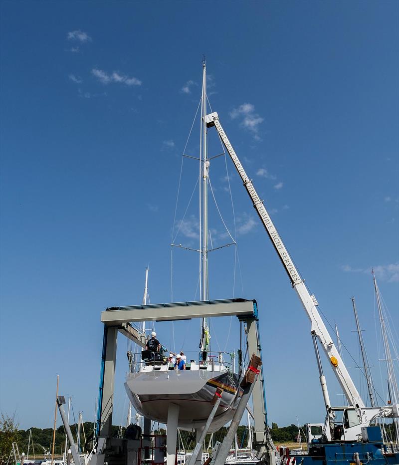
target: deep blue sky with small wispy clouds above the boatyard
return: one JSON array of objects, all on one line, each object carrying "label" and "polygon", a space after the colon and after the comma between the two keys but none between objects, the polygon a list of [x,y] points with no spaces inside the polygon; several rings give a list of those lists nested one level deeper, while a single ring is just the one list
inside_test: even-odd
[{"label": "deep blue sky with small wispy clouds above the boatyard", "polygon": [[[370,269],[398,327],[398,17],[394,1],[3,1],[0,410],[23,428],[50,427],[58,373],[60,392],[92,420],[100,312],[141,302],[148,263],[151,301],[171,300],[176,194],[202,54],[212,109],[359,363],[356,297],[384,397]],[[193,131],[187,151],[196,155]],[[214,135],[210,142],[219,153]],[[270,421],[320,421],[309,321],[226,161],[227,172],[215,159],[210,177],[233,232],[230,179],[241,271],[233,286],[234,250],[212,252],[210,297],[258,301]],[[197,170],[184,161],[178,221]],[[197,243],[197,205],[194,196],[179,243]],[[212,204],[210,213],[222,244]],[[176,250],[173,273],[174,299],[194,299],[194,252]],[[157,331],[168,348],[195,353],[197,326]],[[229,327],[212,322],[213,350],[238,348],[238,324],[227,339]],[[119,337],[114,423],[126,416],[126,350]],[[344,359],[365,396],[359,369]]]}]

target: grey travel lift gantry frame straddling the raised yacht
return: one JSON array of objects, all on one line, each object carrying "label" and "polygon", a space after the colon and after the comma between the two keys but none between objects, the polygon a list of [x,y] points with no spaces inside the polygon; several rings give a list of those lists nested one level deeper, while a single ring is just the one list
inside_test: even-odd
[{"label": "grey travel lift gantry frame straddling the raised yacht", "polygon": [[[107,308],[101,313],[101,322],[104,323],[104,339],[97,413],[97,451],[99,453],[107,450],[107,442],[111,442],[118,331],[128,336],[141,347],[145,347],[143,335],[139,331],[136,331],[131,323],[141,321],[176,321],[220,316],[236,316],[239,321],[245,323],[248,354],[255,354],[261,359],[258,309],[255,300],[226,299],[122,306]],[[259,380],[254,383],[252,399],[255,423],[254,446],[257,457],[263,462],[269,463],[274,454],[271,450],[272,445],[268,434],[262,371],[260,372]],[[176,438],[168,438],[168,441],[171,440],[176,442]],[[168,449],[171,450],[171,448]],[[173,449],[176,451],[176,446]]]}]

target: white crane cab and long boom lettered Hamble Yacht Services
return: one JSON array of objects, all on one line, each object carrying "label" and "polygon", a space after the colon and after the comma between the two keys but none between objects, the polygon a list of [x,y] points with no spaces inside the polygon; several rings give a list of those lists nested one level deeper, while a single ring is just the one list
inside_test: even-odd
[{"label": "white crane cab and long boom lettered Hamble Yacht Services", "polygon": [[[259,198],[252,180],[247,176],[241,162],[235,153],[222,125],[219,121],[219,116],[216,112],[210,113],[205,116],[205,124],[208,128],[214,126],[217,130],[219,138],[225,147],[228,155],[230,156],[234,166],[244,183],[244,187],[251,198],[253,207],[256,210],[267,234],[272,241],[272,244],[280,258],[281,263],[284,266],[285,271],[291,281],[292,287],[295,289],[302,305],[305,309],[311,322],[311,334],[313,337],[316,358],[319,367],[320,384],[322,387],[323,398],[327,410],[326,422],[324,425],[324,434],[328,441],[332,440],[345,440],[345,441],[356,441],[359,440],[362,433],[365,432],[362,428],[369,427],[373,420],[377,417],[398,417],[399,416],[399,405],[384,406],[375,408],[366,408],[355,384],[352,381],[351,376],[346,369],[344,362],[342,361],[340,354],[317,310],[318,302],[314,294],[311,294],[305,285],[304,279],[302,279],[296,268],[288,250],[286,249],[283,240],[281,239],[273,221],[270,218],[263,201]],[[323,375],[321,362],[318,355],[317,341],[319,340],[335,376],[341,388],[348,400],[349,407],[345,408],[332,408],[328,396],[327,386],[325,377]],[[338,411],[341,413],[339,414]],[[342,417],[338,421],[338,415]],[[256,427],[255,427],[256,430]],[[255,431],[256,433],[256,431]]]}]

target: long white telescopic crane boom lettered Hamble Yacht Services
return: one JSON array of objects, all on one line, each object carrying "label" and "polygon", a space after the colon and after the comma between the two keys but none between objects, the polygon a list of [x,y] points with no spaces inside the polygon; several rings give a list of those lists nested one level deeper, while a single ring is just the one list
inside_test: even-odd
[{"label": "long white telescopic crane boom lettered Hamble Yacht Services", "polygon": [[348,399],[349,405],[360,408],[364,407],[365,404],[360,397],[360,394],[356,389],[352,378],[350,377],[348,370],[346,369],[344,362],[342,361],[340,354],[335,347],[335,344],[317,310],[318,302],[315,296],[313,294],[311,295],[308,291],[305,285],[305,281],[301,278],[299,271],[295,267],[294,262],[288,253],[288,250],[285,248],[285,245],[263,204],[263,201],[260,200],[258,194],[255,191],[255,188],[253,187],[252,181],[245,173],[245,170],[241,165],[237,154],[235,153],[230,141],[228,140],[228,137],[220,124],[218,114],[213,112],[206,115],[205,122],[207,127],[214,126],[216,128],[224,147],[226,148],[231,160],[233,161],[234,166],[240,178],[242,179],[242,182],[244,183],[245,189],[252,200],[253,207],[255,208],[266,232],[268,233],[272,244],[285,268],[285,271],[291,280],[292,287],[296,290],[298,297],[301,300],[302,305],[310,319],[311,333],[312,335],[315,335],[320,341],[324,352],[330,361],[335,376],[337,377],[338,382],[340,383],[342,390]]}]

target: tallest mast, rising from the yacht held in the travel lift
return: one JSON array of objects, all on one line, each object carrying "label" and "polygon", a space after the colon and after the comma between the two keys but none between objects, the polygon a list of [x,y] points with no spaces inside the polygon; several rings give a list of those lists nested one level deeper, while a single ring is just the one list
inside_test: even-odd
[{"label": "tallest mast, rising from the yacht held in the travel lift", "polygon": [[[201,300],[208,300],[208,168],[209,161],[207,156],[206,145],[206,62],[202,61],[202,106],[201,106],[201,154],[200,154],[200,167],[202,176],[202,197],[201,197],[201,223],[202,230],[200,236],[201,243]],[[207,323],[206,318],[201,319],[201,346],[202,350],[207,350],[206,335]]]}]

